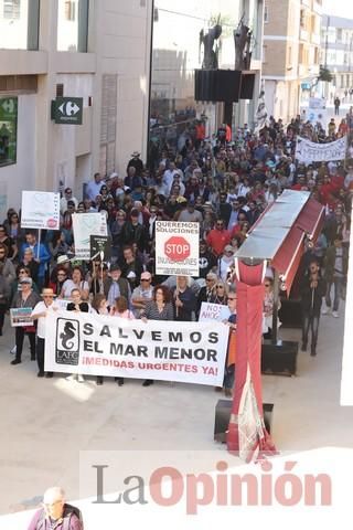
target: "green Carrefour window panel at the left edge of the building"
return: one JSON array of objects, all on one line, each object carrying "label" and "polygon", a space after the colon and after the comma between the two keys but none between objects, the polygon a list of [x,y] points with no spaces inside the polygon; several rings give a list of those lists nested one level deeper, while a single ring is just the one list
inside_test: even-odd
[{"label": "green Carrefour window panel at the left edge of the building", "polygon": [[0,98],[0,167],[15,163],[18,139],[18,98]]}]

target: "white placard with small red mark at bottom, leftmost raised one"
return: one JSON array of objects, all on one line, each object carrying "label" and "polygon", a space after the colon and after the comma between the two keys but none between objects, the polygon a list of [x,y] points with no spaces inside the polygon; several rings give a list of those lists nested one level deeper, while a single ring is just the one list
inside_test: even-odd
[{"label": "white placard with small red mark at bottom, leftmost raised one", "polygon": [[60,193],[22,191],[21,227],[58,230]]}]

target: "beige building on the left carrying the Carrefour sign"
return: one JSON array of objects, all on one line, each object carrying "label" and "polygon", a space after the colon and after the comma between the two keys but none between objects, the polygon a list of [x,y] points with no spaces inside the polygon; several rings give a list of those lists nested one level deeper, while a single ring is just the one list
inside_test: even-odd
[{"label": "beige building on the left carrying the Carrefour sign", "polygon": [[[0,215],[21,190],[124,174],[146,156],[152,0],[0,0]],[[52,102],[82,98],[82,125]],[[79,105],[78,105],[79,106]]]}]

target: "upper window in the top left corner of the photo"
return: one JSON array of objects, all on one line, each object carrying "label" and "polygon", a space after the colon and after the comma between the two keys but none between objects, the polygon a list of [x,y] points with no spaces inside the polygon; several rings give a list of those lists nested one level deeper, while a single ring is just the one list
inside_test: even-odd
[{"label": "upper window in the top left corner of the photo", "polygon": [[0,49],[38,50],[40,0],[0,0]]}]

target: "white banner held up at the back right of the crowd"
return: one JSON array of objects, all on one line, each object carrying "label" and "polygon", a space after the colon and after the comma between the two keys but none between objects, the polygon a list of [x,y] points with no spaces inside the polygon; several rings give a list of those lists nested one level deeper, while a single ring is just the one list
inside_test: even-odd
[{"label": "white banner held up at the back right of the crowd", "polygon": [[297,138],[296,159],[300,163],[330,162],[343,160],[346,152],[346,137],[329,144],[315,144],[307,138]]}]

